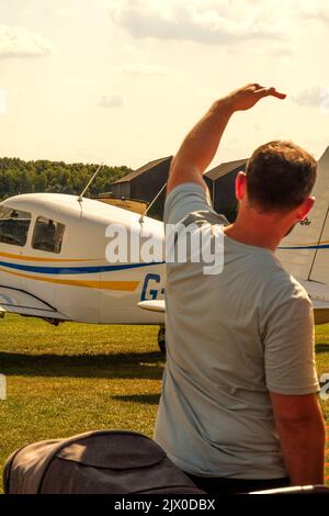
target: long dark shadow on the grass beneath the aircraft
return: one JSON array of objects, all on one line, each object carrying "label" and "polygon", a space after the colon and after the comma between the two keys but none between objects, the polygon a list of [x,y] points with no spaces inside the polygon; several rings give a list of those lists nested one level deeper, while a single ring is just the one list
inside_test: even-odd
[{"label": "long dark shadow on the grass beneath the aircraft", "polygon": [[0,370],[7,375],[70,378],[161,379],[160,352],[117,355],[25,355],[0,352]]}]

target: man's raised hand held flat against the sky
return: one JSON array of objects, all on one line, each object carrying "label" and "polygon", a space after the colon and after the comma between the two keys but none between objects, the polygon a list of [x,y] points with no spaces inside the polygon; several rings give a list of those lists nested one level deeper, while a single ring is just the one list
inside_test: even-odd
[{"label": "man's raised hand held flat against the sky", "polygon": [[232,91],[223,100],[235,111],[250,110],[263,97],[275,97],[276,99],[285,99],[286,94],[280,93],[275,88],[264,88],[258,83],[247,85],[243,88]]}]

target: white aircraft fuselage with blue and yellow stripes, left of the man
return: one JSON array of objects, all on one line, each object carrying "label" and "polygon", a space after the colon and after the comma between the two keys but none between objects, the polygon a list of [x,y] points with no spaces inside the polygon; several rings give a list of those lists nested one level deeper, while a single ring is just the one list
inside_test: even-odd
[{"label": "white aircraft fuselage with blue and yellow stripes, left of the man", "polygon": [[[55,322],[163,323],[162,313],[138,306],[163,299],[163,263],[109,262],[105,255],[109,225],[138,234],[143,224],[163,240],[161,222],[145,217],[140,224],[136,213],[54,193],[16,195],[0,210],[0,305],[5,311]],[[57,248],[46,242],[47,234],[39,236],[41,229],[52,238],[60,233]]]}]

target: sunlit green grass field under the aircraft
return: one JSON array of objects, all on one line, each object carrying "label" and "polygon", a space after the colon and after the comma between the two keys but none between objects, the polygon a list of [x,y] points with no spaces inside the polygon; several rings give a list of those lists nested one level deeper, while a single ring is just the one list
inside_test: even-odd
[{"label": "sunlit green grass field under the aircraft", "polygon": [[[9,455],[33,441],[98,428],[151,436],[163,371],[157,327],[54,328],[15,315],[0,327],[0,373],[8,379],[8,399],[0,401],[0,475]],[[316,337],[318,373],[329,373],[329,324],[318,326]],[[321,403],[329,425],[329,401]]]}]

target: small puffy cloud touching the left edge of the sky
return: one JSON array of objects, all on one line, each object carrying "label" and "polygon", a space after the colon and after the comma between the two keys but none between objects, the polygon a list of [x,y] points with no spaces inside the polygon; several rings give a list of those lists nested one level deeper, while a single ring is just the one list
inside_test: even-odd
[{"label": "small puffy cloud touching the left edge of the sky", "polygon": [[1,57],[42,57],[52,54],[52,44],[20,26],[0,25]]}]

